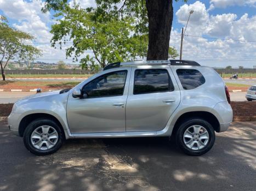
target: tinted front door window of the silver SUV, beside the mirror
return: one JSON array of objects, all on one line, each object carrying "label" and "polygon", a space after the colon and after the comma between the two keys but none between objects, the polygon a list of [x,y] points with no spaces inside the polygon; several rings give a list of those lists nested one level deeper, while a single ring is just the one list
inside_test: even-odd
[{"label": "tinted front door window of the silver SUV, beside the mirror", "polygon": [[87,98],[122,96],[126,83],[127,70],[104,74],[82,88]]}]

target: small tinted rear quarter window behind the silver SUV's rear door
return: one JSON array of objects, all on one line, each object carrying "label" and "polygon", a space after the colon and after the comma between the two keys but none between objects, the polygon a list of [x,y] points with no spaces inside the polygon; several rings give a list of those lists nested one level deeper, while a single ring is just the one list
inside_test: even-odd
[{"label": "small tinted rear quarter window behind the silver SUV's rear door", "polygon": [[206,82],[200,71],[195,69],[177,69],[177,75],[183,89],[194,89]]}]

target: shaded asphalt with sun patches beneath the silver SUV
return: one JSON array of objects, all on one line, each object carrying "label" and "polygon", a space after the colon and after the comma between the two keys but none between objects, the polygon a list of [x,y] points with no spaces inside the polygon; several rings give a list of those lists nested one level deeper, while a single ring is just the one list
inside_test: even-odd
[{"label": "shaded asphalt with sun patches beneath the silver SUV", "polygon": [[211,151],[186,156],[168,138],[68,140],[29,153],[0,123],[0,190],[255,190],[256,126],[234,123]]}]

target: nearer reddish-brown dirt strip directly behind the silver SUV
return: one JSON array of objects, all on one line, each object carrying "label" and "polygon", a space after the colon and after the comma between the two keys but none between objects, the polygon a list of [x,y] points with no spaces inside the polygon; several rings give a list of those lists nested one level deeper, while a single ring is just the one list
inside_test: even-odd
[{"label": "nearer reddish-brown dirt strip directly behind the silver SUV", "polygon": [[[0,117],[9,116],[13,104],[0,104]],[[256,102],[231,102],[234,121],[256,121]]]}]

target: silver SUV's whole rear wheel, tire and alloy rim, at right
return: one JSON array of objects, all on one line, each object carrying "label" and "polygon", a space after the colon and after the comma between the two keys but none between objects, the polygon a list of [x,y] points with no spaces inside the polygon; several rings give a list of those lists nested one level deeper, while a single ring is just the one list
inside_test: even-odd
[{"label": "silver SUV's whole rear wheel, tire and alloy rim, at right", "polygon": [[210,123],[201,118],[190,118],[180,124],[176,142],[186,154],[200,156],[214,145],[215,132]]}]

